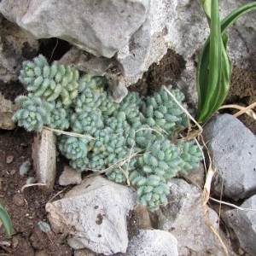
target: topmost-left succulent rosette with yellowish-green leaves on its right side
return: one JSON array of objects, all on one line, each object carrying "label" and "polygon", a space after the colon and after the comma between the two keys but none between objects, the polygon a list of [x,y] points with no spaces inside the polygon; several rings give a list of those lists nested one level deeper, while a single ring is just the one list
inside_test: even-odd
[{"label": "topmost-left succulent rosette with yellowish-green leaves on its right side", "polygon": [[79,93],[79,72],[57,61],[49,66],[43,55],[38,55],[33,61],[24,61],[19,79],[26,85],[29,96],[41,97],[48,102],[61,97],[61,102],[67,105]]}]

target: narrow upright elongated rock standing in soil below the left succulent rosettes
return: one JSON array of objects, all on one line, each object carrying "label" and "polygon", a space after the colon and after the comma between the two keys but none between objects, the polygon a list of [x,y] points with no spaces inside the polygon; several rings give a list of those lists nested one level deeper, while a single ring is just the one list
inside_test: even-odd
[{"label": "narrow upright elongated rock standing in soil below the left succulent rosettes", "polygon": [[33,167],[37,172],[38,183],[44,194],[50,194],[56,177],[56,137],[53,131],[43,129],[32,144]]}]

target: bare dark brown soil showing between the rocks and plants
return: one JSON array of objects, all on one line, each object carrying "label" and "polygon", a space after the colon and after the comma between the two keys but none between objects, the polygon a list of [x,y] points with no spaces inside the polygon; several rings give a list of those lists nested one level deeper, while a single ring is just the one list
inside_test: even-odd
[{"label": "bare dark brown soil showing between the rocks and plants", "polygon": [[[56,49],[58,50],[58,47]],[[44,53],[44,48],[41,50]],[[46,54],[49,58],[50,52]],[[58,57],[55,56],[54,58],[57,59]],[[184,67],[185,61],[183,61],[183,58],[169,50],[160,64],[153,64],[148,73],[144,74],[143,79],[131,86],[130,89],[137,90],[145,96],[158,90],[161,84],[175,85]],[[255,101],[255,78],[255,71],[244,71],[236,67],[232,76],[230,96],[226,102],[247,106]],[[7,99],[12,101],[15,100],[16,96],[26,93],[23,86],[18,82],[12,84],[0,83],[0,91]],[[255,121],[243,116],[241,120],[256,134]],[[12,238],[9,238],[3,227],[0,227],[0,255],[70,256],[73,255],[73,250],[67,245],[66,236],[54,232],[46,234],[38,227],[39,221],[47,222],[47,215],[44,210],[46,202],[64,189],[58,185],[58,178],[56,178],[52,195],[42,195],[36,186],[24,189],[23,193],[20,191],[26,183],[26,179],[34,176],[32,169],[24,177],[20,176],[19,172],[20,165],[24,161],[32,162],[33,137],[34,133],[26,132],[20,127],[15,131],[0,130],[0,201],[9,212],[14,226]],[[59,160],[57,176],[62,172],[64,163],[65,160]],[[67,189],[71,189],[71,187]],[[60,198],[61,194],[58,196]],[[134,218],[136,218],[136,214],[132,212],[130,218],[127,218],[130,237],[136,235],[138,230],[138,226],[134,225]],[[8,241],[10,247],[1,246],[2,241]]]}]

